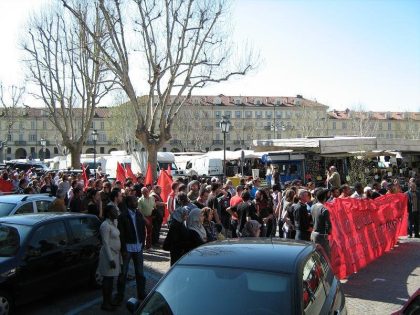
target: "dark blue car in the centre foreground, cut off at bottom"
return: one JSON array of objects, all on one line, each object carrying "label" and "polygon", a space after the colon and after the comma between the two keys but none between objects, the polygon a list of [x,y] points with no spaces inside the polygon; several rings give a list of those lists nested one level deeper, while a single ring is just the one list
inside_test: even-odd
[{"label": "dark blue car in the centre foreground, cut off at bottom", "polygon": [[[135,309],[131,299],[128,308]],[[186,254],[136,314],[346,314],[328,259],[313,243],[227,240]]]}]

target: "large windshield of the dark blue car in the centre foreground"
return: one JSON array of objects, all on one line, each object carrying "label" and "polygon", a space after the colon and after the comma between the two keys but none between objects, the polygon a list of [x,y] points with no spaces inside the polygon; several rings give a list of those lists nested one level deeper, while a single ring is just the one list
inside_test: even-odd
[{"label": "large windshield of the dark blue car in the centre foreground", "polygon": [[288,275],[212,266],[176,266],[140,314],[290,314]]}]

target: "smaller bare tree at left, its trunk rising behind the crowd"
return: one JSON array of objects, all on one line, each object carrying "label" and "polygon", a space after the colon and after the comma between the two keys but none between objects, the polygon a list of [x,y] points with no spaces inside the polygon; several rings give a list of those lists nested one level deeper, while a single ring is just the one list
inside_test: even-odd
[{"label": "smaller bare tree at left, its trunk rising behind the crowd", "polygon": [[[107,45],[104,21],[88,16],[87,5],[78,9],[79,19],[59,8],[32,17],[22,45],[28,79],[36,86],[31,94],[46,106],[73,167],[80,166],[95,108],[114,85],[101,62],[99,45]],[[93,40],[87,26],[98,39]]]}]

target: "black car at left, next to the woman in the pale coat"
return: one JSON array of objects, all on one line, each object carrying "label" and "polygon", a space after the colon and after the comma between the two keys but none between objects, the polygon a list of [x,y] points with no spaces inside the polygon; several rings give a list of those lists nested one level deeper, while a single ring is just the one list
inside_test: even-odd
[{"label": "black car at left, next to the woman in the pale coat", "polygon": [[1,218],[0,314],[66,286],[95,285],[99,225],[76,213]]}]

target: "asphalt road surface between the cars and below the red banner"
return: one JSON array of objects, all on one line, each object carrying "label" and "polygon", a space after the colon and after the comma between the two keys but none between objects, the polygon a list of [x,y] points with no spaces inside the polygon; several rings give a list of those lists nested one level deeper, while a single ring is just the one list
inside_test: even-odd
[{"label": "asphalt road surface between the cars and below the red banner", "polygon": [[[168,253],[145,252],[147,288],[150,290],[169,268]],[[402,239],[392,251],[342,281],[349,314],[390,314],[420,287],[420,239]],[[135,296],[134,282],[128,283],[126,297]],[[88,287],[60,292],[41,301],[19,307],[17,314],[93,315],[100,310],[100,290]],[[121,306],[113,314],[129,314]]]}]

